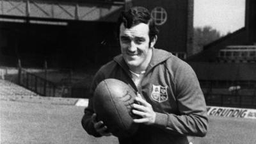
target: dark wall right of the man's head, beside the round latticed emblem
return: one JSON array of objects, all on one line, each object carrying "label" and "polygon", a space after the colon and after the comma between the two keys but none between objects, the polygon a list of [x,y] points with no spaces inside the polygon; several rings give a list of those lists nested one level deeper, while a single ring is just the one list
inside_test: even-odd
[{"label": "dark wall right of the man's head, beside the round latticed emblem", "polygon": [[[193,19],[189,19],[188,10],[193,13],[193,8],[188,4],[193,4],[192,0],[135,0],[133,6],[144,6],[151,12],[156,6],[163,7],[167,12],[166,22],[158,26],[159,35],[156,47],[173,52],[187,52],[189,35],[193,36]],[[192,15],[193,17],[193,15]],[[191,15],[190,15],[191,18]],[[190,24],[190,27],[189,27]],[[191,42],[191,41],[190,41]]]}]

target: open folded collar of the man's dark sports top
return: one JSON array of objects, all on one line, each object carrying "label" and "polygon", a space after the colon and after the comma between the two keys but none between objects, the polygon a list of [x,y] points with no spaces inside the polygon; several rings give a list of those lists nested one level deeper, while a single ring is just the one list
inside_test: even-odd
[{"label": "open folded collar of the man's dark sports top", "polygon": [[[164,51],[163,49],[155,49],[155,48],[152,48],[152,49],[153,49],[152,58],[150,60],[150,63],[148,65],[146,72],[148,72],[151,68],[155,67],[159,63],[162,63],[163,61],[167,60],[172,56],[170,52]],[[118,56],[116,56],[114,58],[114,61],[116,61],[118,65],[120,65],[127,73],[129,73],[129,67],[125,63],[122,54],[119,54]]]}]

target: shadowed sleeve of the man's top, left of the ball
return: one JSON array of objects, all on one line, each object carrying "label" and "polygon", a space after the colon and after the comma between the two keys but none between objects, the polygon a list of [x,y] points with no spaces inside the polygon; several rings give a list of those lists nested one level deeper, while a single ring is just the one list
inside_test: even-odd
[{"label": "shadowed sleeve of the man's top, left of the ball", "polygon": [[90,88],[90,98],[89,98],[88,107],[84,109],[84,116],[83,116],[82,121],[81,121],[84,130],[88,134],[91,134],[95,137],[100,137],[101,135],[98,132],[95,131],[95,129],[93,127],[93,123],[92,123],[92,118],[91,118],[93,113],[94,113],[94,111],[93,111],[93,92],[94,92],[96,86],[103,79],[104,79],[104,76],[103,76],[102,72],[100,72],[100,70],[99,70],[93,78],[93,83],[92,83],[92,86]]}]

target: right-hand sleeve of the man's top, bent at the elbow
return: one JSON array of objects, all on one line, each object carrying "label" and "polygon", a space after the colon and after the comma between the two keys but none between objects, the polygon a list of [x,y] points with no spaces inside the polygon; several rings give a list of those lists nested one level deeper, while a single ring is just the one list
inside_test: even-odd
[{"label": "right-hand sleeve of the man's top, bent at the elbow", "polygon": [[156,126],[187,136],[205,136],[208,118],[204,94],[193,69],[182,63],[173,72],[178,113],[156,113]]}]

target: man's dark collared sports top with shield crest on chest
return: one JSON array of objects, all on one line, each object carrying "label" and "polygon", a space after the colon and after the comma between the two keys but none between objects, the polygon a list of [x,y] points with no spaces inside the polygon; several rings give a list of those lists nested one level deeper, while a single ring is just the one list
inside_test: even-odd
[{"label": "man's dark collared sports top with shield crest on chest", "polygon": [[131,72],[122,57],[103,65],[93,79],[88,108],[84,109],[82,125],[88,134],[99,137],[92,123],[93,92],[104,79],[118,79],[142,95],[156,112],[152,125],[140,124],[136,134],[118,138],[120,144],[168,143],[184,144],[194,136],[205,136],[207,111],[204,95],[193,69],[170,52],[153,49],[152,59],[145,71],[140,86],[136,87]]}]

